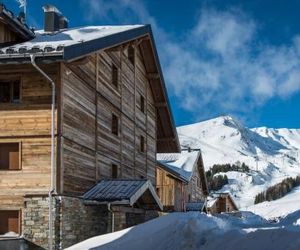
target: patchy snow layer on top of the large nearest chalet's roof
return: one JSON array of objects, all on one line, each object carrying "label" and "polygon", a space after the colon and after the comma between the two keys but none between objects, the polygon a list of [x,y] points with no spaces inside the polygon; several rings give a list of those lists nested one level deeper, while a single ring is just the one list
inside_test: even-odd
[{"label": "patchy snow layer on top of the large nearest chalet's roof", "polygon": [[86,26],[70,28],[59,32],[50,33],[43,30],[36,31],[36,37],[28,42],[19,43],[0,49],[1,54],[58,52],[64,47],[82,44],[84,42],[100,39],[113,34],[143,27],[144,25],[122,26]]}]

